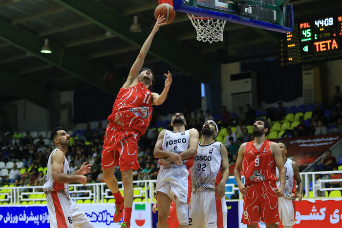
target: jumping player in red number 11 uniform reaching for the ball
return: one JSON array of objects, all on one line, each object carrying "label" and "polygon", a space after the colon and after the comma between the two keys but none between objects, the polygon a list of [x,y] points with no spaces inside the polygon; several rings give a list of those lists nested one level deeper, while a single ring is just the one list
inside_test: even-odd
[{"label": "jumping player in red number 11 uniform reaching for the ball", "polygon": [[[140,167],[137,161],[137,142],[150,124],[152,105],[164,103],[172,82],[171,73],[168,71],[168,74],[165,74],[167,78],[163,92],[160,95],[151,92],[149,87],[152,86],[154,75],[149,68],[142,68],[152,39],[164,21],[163,16],[158,17],[150,36],[142,46],[132,68],[130,68],[127,81],[115,99],[112,114],[108,116],[109,123],[104,137],[102,153],[103,179],[116,201],[113,221],[119,222],[125,212],[121,228],[130,227],[133,202],[133,170]],[[114,177],[116,165],[119,165],[121,170],[125,189],[124,197],[122,197],[118,182]]]}]

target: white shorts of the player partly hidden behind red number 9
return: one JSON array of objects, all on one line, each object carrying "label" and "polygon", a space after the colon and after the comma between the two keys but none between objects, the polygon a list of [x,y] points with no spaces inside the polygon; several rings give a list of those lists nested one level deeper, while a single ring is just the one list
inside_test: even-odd
[{"label": "white shorts of the player partly hidden behind red number 9", "polygon": [[278,204],[281,224],[289,227],[295,225],[295,202],[282,196],[278,198]]}]

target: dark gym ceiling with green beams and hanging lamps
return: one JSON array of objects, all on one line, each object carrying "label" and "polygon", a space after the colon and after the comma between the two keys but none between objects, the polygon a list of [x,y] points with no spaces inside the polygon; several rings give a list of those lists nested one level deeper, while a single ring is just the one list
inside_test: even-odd
[{"label": "dark gym ceiling with green beams and hanging lamps", "polygon": [[[342,12],[341,0],[291,0],[295,22]],[[49,91],[97,87],[116,94],[155,23],[158,0],[0,0],[0,103],[48,107]],[[138,16],[142,32],[129,31]],[[145,66],[208,82],[214,62],[279,56],[282,33],[226,23],[224,42],[196,41],[186,14],[160,28]],[[48,39],[52,53],[41,53]],[[113,75],[111,83],[104,82]]]}]

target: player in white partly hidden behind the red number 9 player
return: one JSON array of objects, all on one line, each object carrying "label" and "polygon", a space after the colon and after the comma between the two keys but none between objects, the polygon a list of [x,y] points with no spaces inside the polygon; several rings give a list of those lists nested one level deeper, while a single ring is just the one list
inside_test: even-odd
[{"label": "player in white partly hidden behind the red number 9 player", "polygon": [[[278,142],[280,147],[282,160],[285,166],[286,182],[284,189],[284,196],[278,199],[279,203],[279,217],[284,228],[292,228],[295,225],[295,200],[296,200],[296,183],[298,185],[298,201],[301,201],[303,192],[303,183],[299,175],[299,167],[296,161],[286,158],[288,146],[286,142]],[[277,169],[277,178],[279,178],[279,171]],[[277,186],[280,183],[277,181]],[[279,223],[276,227],[278,228]]]}]

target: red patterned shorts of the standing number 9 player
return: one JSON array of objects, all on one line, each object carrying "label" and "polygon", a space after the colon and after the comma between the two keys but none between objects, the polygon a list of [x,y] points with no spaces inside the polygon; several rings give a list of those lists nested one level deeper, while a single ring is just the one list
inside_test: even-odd
[{"label": "red patterned shorts of the standing number 9 player", "polygon": [[249,192],[243,202],[241,223],[254,224],[279,222],[276,182],[255,182],[249,185]]}]

